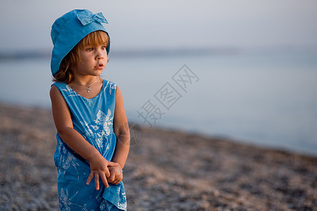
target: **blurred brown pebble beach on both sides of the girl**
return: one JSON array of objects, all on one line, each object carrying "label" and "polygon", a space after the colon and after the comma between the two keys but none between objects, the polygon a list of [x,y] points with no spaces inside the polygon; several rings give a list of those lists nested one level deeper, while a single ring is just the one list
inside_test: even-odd
[{"label": "blurred brown pebble beach on both sides of the girl", "polygon": [[[0,103],[0,210],[58,210],[50,110]],[[317,210],[317,157],[142,128],[128,210]]]}]

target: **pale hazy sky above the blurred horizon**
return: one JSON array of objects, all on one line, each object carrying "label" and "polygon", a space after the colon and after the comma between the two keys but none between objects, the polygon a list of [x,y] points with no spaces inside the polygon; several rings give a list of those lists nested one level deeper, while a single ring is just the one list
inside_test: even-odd
[{"label": "pale hazy sky above the blurred horizon", "polygon": [[115,50],[317,47],[317,1],[1,0],[0,51],[51,49],[51,25],[73,8],[102,12]]}]

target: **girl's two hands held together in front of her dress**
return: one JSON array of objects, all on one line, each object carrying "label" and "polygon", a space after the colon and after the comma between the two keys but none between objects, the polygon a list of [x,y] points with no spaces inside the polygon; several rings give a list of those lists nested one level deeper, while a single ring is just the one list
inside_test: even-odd
[{"label": "girl's two hands held together in front of her dress", "polygon": [[122,168],[118,162],[111,162],[106,160],[100,153],[97,153],[89,159],[90,174],[86,184],[89,185],[90,181],[94,177],[94,184],[96,190],[99,190],[99,178],[104,183],[104,186],[108,188],[108,183],[119,184],[123,179]]}]

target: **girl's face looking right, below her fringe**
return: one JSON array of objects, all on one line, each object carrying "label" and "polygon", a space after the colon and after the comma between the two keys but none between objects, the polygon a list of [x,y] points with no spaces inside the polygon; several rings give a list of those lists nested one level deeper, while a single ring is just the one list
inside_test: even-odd
[{"label": "girl's face looking right, below her fringe", "polygon": [[87,45],[79,50],[81,60],[77,60],[74,75],[99,76],[107,65],[106,45]]}]

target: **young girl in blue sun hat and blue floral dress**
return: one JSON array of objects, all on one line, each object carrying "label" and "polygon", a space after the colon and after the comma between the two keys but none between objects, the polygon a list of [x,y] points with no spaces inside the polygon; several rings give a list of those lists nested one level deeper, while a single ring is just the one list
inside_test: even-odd
[{"label": "young girl in blue sun hat and blue floral dress", "polygon": [[101,23],[101,13],[73,10],[51,28],[60,210],[126,210],[130,132],[120,89],[100,77],[110,47]]}]

